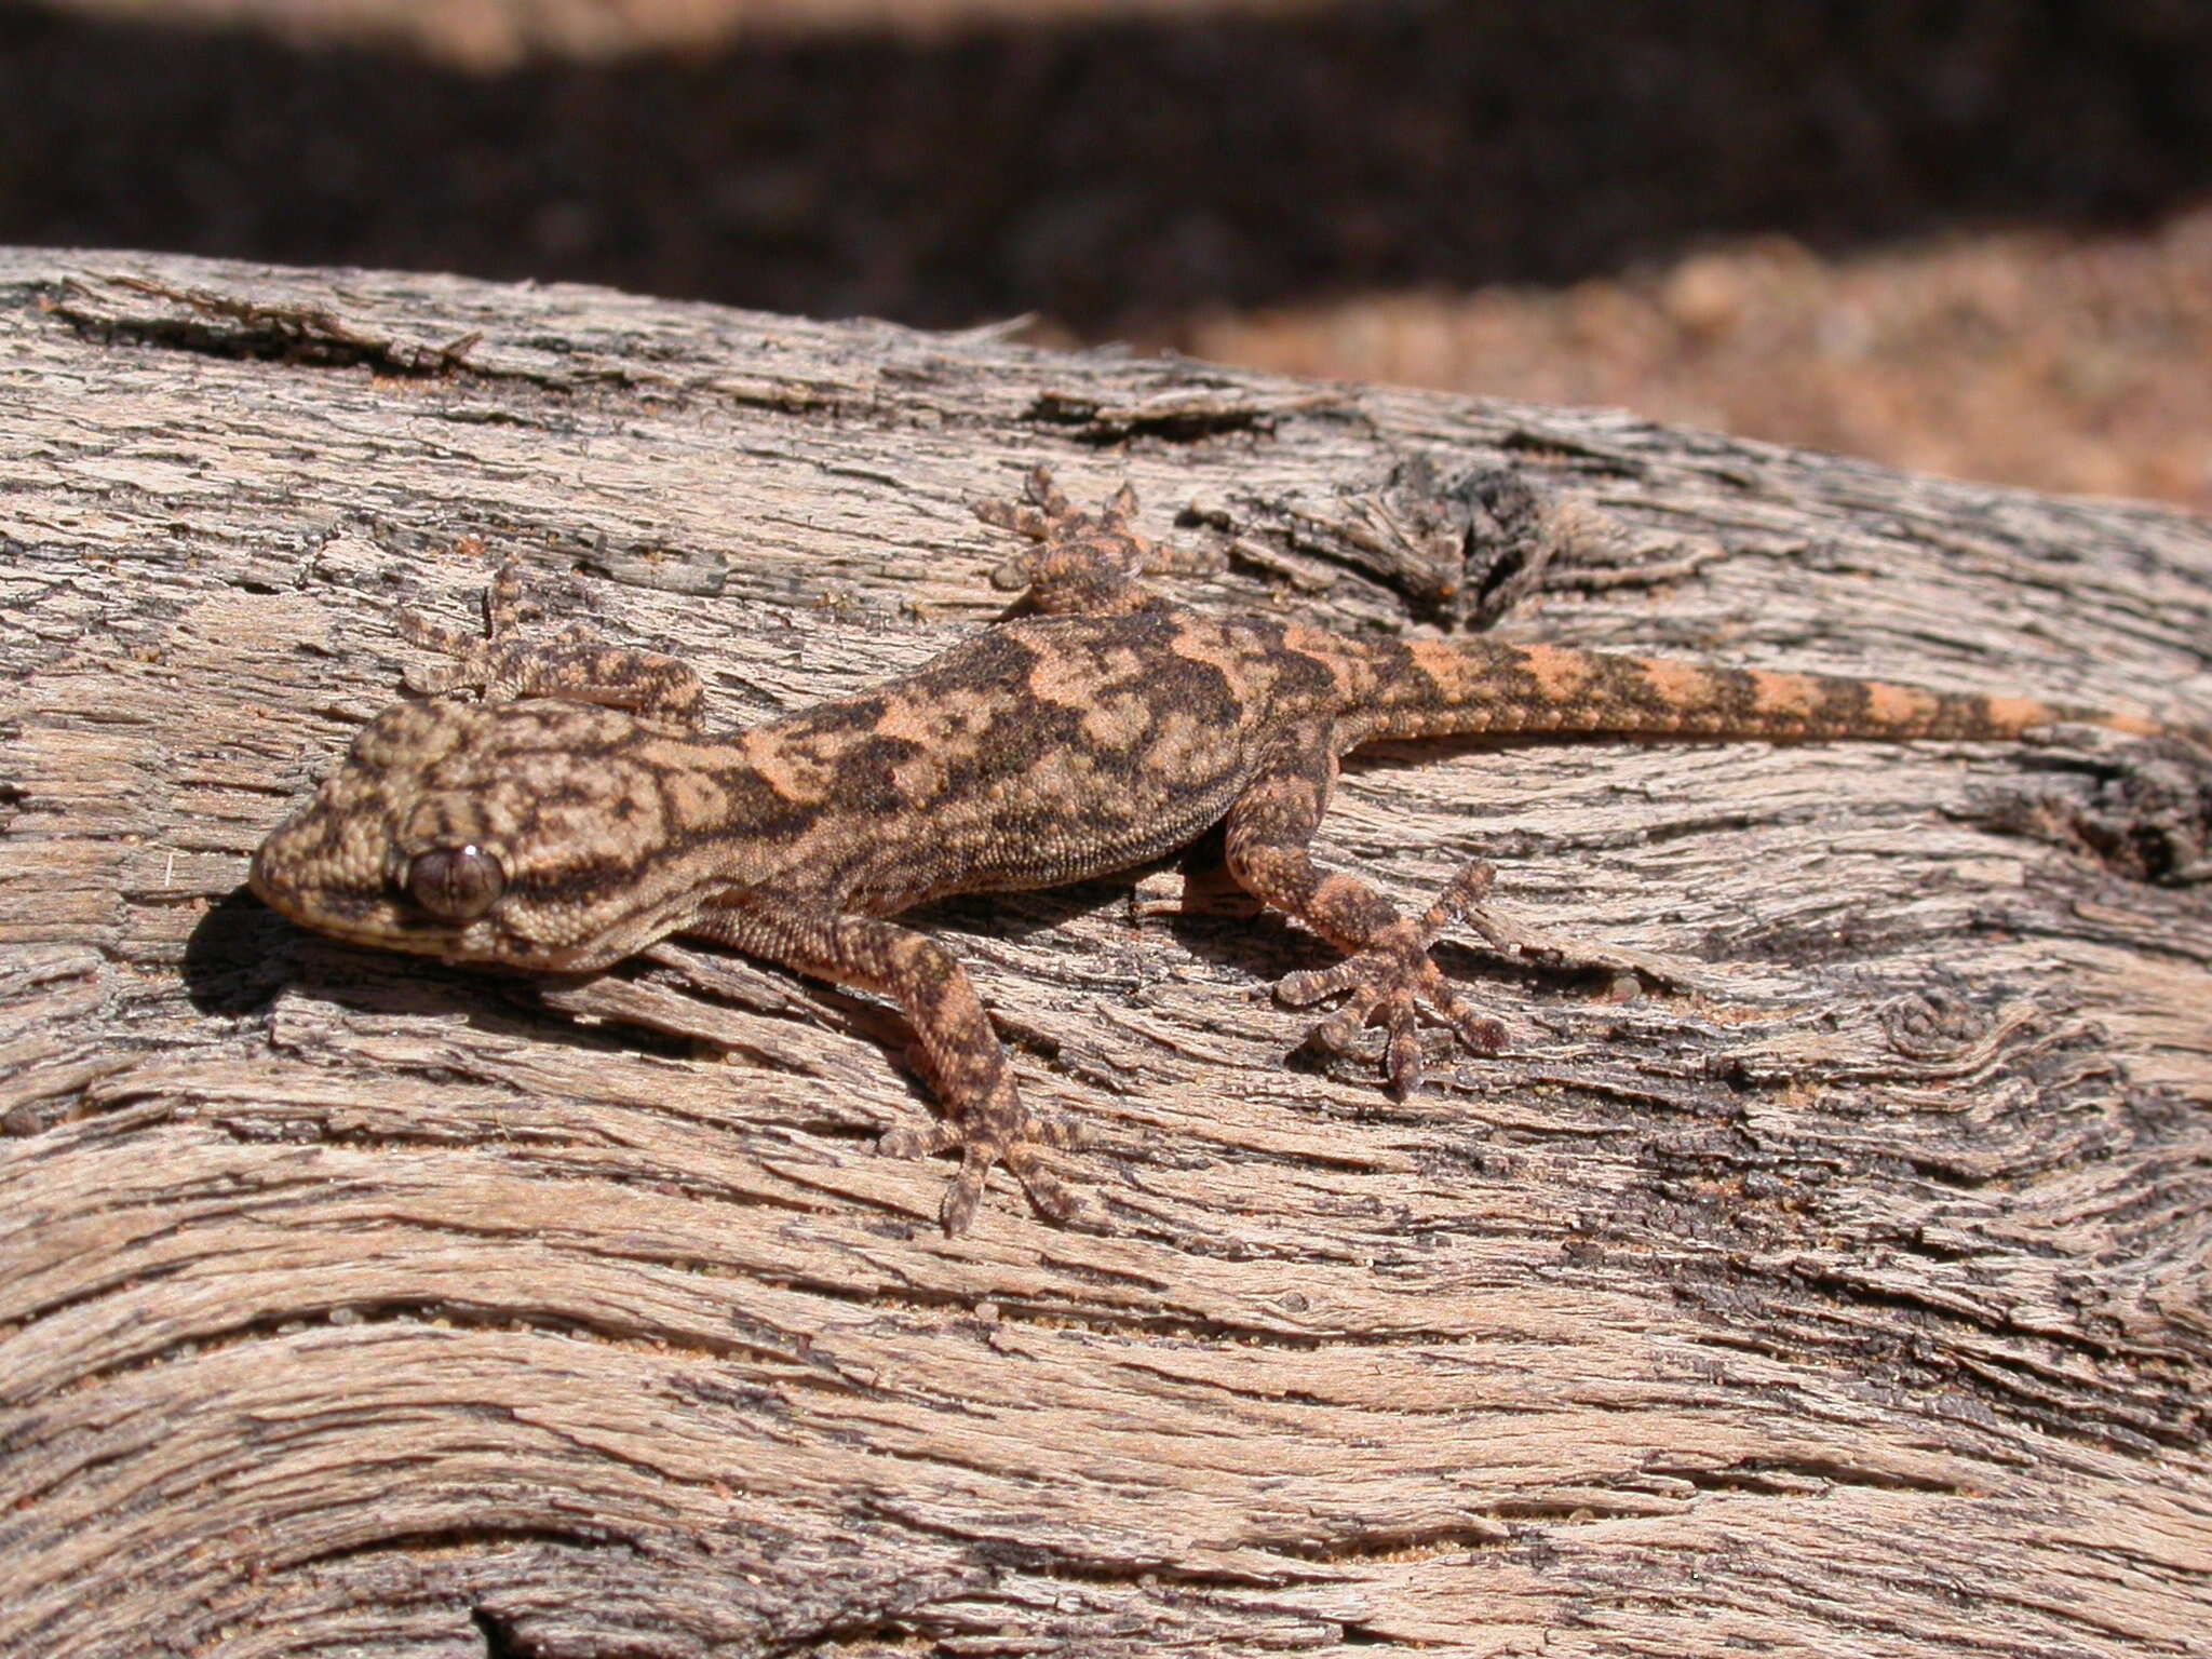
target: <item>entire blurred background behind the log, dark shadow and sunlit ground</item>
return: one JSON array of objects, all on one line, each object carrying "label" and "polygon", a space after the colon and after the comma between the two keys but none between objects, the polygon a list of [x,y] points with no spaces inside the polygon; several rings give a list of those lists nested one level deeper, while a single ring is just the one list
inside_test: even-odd
[{"label": "entire blurred background behind the log, dark shadow and sunlit ground", "polygon": [[2205,0],[1135,7],[0,0],[0,243],[1031,316],[2212,511]]}]

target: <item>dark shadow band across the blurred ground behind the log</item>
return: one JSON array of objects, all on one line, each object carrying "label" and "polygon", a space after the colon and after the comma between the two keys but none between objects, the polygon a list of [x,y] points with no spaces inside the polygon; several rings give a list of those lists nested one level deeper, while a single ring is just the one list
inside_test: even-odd
[{"label": "dark shadow band across the blurred ground behind the log", "polygon": [[0,108],[0,241],[1172,334],[1745,230],[2148,221],[2212,186],[2212,7],[1407,2],[478,75],[18,2]]}]

